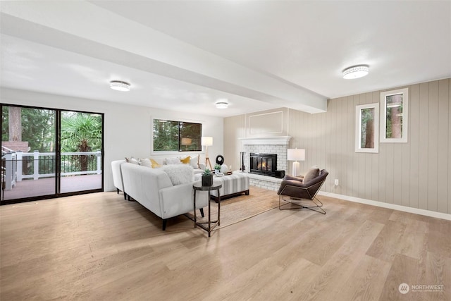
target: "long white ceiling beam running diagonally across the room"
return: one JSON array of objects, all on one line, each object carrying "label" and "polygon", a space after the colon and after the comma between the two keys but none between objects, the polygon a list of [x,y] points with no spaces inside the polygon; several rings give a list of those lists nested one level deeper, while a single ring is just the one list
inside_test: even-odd
[{"label": "long white ceiling beam running diagonally across the room", "polygon": [[6,35],[261,102],[309,113],[327,109],[326,97],[85,1],[1,1],[0,8]]}]

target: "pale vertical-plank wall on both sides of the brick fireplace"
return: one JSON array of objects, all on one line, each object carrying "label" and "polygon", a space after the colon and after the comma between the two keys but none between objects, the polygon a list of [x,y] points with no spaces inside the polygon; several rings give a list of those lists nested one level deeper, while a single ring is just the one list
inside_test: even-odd
[{"label": "pale vertical-plank wall on both sides of the brick fireplace", "polygon": [[[407,143],[380,143],[378,154],[354,150],[355,106],[379,103],[380,93],[398,89],[393,88],[330,99],[326,113],[290,109],[290,147],[306,149],[302,171],[314,165],[329,171],[326,192],[451,214],[451,79],[406,87]],[[245,115],[224,119],[224,154],[234,169],[245,121]]]}]

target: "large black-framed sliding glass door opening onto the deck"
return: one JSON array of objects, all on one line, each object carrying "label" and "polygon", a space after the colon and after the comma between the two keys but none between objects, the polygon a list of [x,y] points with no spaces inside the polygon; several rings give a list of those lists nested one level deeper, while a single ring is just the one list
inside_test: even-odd
[{"label": "large black-framed sliding glass door opening onto the deck", "polygon": [[103,190],[103,115],[1,104],[0,204]]}]

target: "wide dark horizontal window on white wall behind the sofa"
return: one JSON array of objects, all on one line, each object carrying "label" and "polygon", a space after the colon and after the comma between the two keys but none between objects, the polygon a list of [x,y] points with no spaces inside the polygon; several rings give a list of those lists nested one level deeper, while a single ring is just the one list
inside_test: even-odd
[{"label": "wide dark horizontal window on white wall behind the sofa", "polygon": [[201,151],[202,124],[154,119],[154,152]]}]

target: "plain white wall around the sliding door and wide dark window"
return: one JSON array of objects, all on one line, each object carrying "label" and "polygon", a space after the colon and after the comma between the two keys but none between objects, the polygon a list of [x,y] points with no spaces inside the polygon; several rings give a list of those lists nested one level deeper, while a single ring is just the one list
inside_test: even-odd
[{"label": "plain white wall around the sliding door and wide dark window", "polygon": [[[165,157],[186,154],[151,154],[152,118],[202,123],[202,135],[213,137],[213,146],[209,147],[211,161],[214,162],[216,155],[223,154],[223,118],[220,117],[197,114],[187,116],[187,113],[178,111],[6,88],[0,89],[0,100],[2,104],[104,113],[105,191],[115,190],[111,176],[113,160],[123,159],[125,156]],[[202,152],[201,161],[204,160]]]}]

